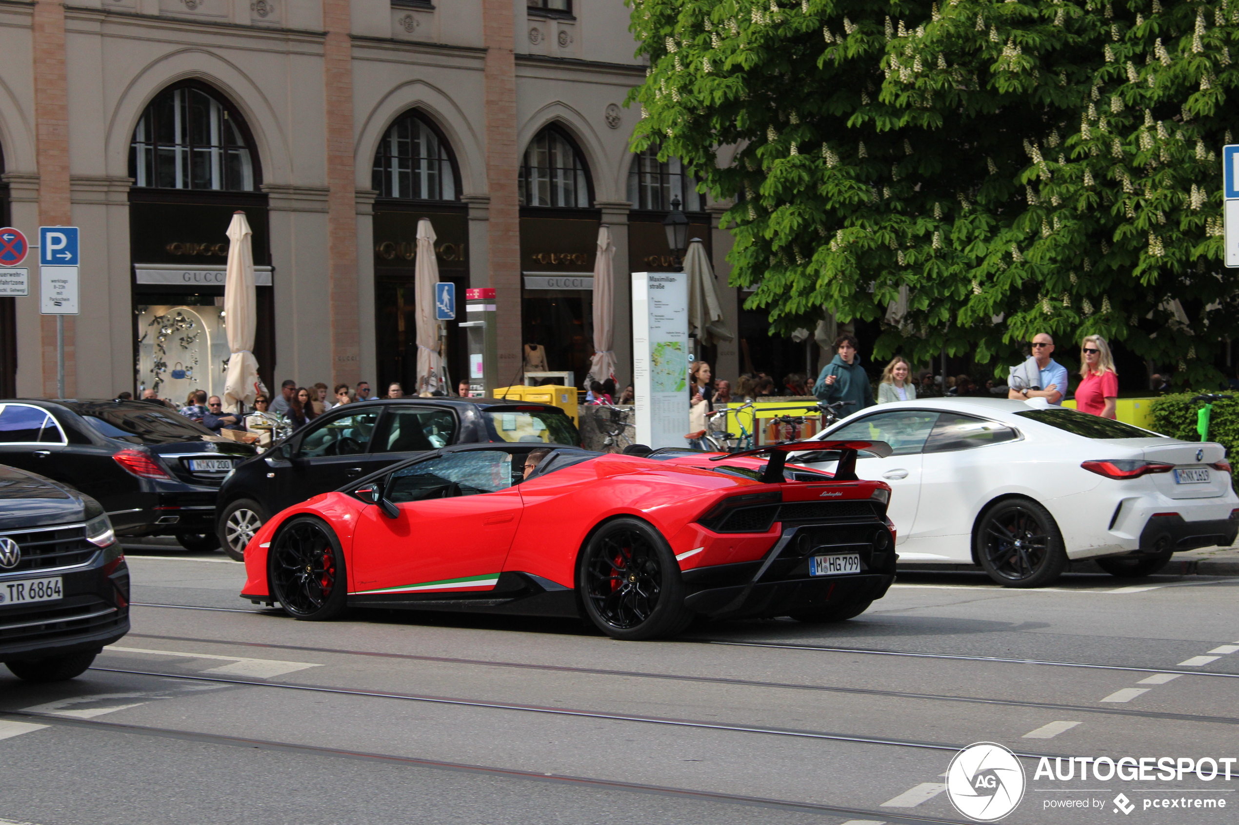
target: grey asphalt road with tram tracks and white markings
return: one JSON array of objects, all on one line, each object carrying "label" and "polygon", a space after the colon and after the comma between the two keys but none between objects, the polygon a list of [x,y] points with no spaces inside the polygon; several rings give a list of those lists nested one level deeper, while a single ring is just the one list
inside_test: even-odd
[{"label": "grey asphalt road with tram tracks and white markings", "polygon": [[[968,821],[943,788],[981,741],[1023,766],[1004,823],[1237,820],[1239,762],[1192,769],[1239,758],[1239,579],[906,574],[843,625],[615,642],[563,620],[296,622],[239,600],[219,554],[129,559],[134,631],[92,670],[0,672],[4,820]],[[1082,782],[1063,757],[1154,762]],[[1158,779],[1158,757],[1193,764]]]}]

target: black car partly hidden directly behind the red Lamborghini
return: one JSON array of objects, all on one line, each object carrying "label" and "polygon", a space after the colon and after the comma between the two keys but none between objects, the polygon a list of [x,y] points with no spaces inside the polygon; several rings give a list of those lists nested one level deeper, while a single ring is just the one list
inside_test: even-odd
[{"label": "black car partly hidden directly behind the red Lamborghini", "polygon": [[242,463],[219,487],[224,553],[245,544],[285,507],[331,492],[389,464],[451,444],[538,442],[580,447],[559,407],[498,398],[377,398],[330,409]]}]

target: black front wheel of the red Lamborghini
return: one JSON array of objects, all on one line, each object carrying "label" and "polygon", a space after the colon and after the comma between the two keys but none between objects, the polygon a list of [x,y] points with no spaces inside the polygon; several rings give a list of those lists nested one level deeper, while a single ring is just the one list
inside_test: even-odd
[{"label": "black front wheel of the red Lamborghini", "polygon": [[271,595],[294,618],[326,621],[344,611],[344,554],[335,531],[313,516],[299,516],[280,528],[266,570]]}]

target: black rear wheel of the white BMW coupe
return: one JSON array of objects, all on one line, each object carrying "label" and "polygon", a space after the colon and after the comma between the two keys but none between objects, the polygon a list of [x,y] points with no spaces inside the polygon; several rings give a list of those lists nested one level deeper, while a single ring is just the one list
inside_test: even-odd
[{"label": "black rear wheel of the white BMW coupe", "polygon": [[1049,511],[1028,498],[1001,501],[981,516],[976,558],[1007,588],[1043,588],[1067,569],[1067,550]]}]

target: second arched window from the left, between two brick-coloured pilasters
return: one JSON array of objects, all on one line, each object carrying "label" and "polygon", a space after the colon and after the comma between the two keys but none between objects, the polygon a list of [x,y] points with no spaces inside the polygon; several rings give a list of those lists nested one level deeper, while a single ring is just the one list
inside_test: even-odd
[{"label": "second arched window from the left, between two brick-coloured pilasters", "polygon": [[415,113],[401,115],[374,152],[372,186],[380,198],[456,200],[456,172],[447,141]]}]

